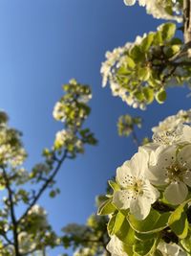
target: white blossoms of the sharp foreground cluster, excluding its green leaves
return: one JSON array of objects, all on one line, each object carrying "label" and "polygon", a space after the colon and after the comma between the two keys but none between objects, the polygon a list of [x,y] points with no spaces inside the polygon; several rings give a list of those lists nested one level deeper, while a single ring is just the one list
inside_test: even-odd
[{"label": "white blossoms of the sharp foreground cluster, excluding its green leaves", "polygon": [[[135,220],[144,221],[156,202],[176,209],[191,198],[190,125],[191,109],[167,117],[152,129],[153,141],[139,147],[117,168],[117,183],[110,198],[117,211],[127,211]],[[128,255],[115,235],[107,249],[113,256]],[[160,242],[158,250],[162,255],[186,255],[177,244]]]}]

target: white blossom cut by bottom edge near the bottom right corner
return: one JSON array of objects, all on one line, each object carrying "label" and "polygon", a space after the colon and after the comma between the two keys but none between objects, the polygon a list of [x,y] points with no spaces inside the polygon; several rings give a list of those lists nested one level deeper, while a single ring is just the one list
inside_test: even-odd
[{"label": "white blossom cut by bottom edge near the bottom right corner", "polygon": [[162,256],[186,256],[187,253],[181,250],[178,244],[166,244],[160,242],[158,245],[159,251],[162,253]]}]

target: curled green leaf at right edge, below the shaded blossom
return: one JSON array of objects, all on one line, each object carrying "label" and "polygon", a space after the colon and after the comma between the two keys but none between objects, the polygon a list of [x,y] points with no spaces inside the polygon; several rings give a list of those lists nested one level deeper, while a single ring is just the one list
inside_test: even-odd
[{"label": "curled green leaf at right edge, below the shaded blossom", "polygon": [[168,220],[168,224],[175,234],[180,238],[184,239],[188,234],[188,221],[187,216],[184,212],[184,207],[187,201],[180,204],[180,206],[171,214]]}]

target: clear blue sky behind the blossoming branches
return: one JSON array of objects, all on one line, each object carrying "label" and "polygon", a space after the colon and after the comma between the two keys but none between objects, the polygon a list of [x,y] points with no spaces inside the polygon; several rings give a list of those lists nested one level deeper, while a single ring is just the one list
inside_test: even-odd
[{"label": "clear blue sky behind the blossoming branches", "polygon": [[57,175],[60,196],[41,199],[56,231],[69,222],[84,223],[96,210],[95,197],[104,193],[107,179],[137,150],[130,139],[117,136],[120,114],[142,115],[138,136],[143,137],[162,118],[190,107],[183,88],[169,89],[164,105],[144,112],[112,97],[109,86],[101,88],[105,52],[155,31],[161,22],[138,6],[125,7],[122,0],[0,0],[0,108],[11,116],[11,126],[24,132],[29,168],[61,128],[52,117],[61,85],[75,78],[93,89],[88,126],[99,144],[63,166]]}]

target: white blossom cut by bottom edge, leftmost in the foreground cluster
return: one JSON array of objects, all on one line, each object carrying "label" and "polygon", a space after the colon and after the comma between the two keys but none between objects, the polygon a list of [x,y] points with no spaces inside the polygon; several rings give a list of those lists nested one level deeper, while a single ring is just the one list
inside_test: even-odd
[{"label": "white blossom cut by bottom edge, leftmost in the foreground cluster", "polygon": [[112,236],[109,244],[107,244],[107,250],[112,256],[128,256],[123,249],[122,242],[117,238],[117,236]]}]

